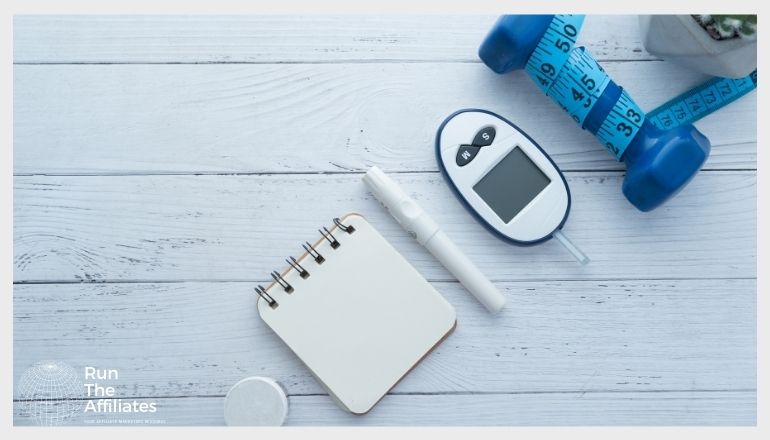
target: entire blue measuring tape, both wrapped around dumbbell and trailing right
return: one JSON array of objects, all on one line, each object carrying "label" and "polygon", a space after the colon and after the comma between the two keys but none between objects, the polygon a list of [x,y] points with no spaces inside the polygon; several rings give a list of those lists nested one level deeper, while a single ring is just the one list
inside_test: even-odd
[{"label": "entire blue measuring tape, both wrapped around dumbbell and trailing right", "polygon": [[[661,129],[692,123],[757,86],[756,71],[739,79],[713,78],[645,114],[584,47],[575,47],[583,20],[583,15],[555,15],[527,60],[525,70],[543,93],[553,98],[581,128],[596,135],[618,160],[645,120]],[[591,111],[608,87],[620,93],[609,111],[597,112],[604,113],[604,119],[600,119]]]}]

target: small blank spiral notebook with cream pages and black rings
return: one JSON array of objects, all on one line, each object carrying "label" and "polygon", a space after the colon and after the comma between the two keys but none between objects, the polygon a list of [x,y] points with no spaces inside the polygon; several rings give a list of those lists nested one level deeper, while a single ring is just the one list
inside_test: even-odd
[{"label": "small blank spiral notebook with cream pages and black rings", "polygon": [[367,413],[455,327],[454,308],[359,214],[256,290],[262,319],[343,409]]}]

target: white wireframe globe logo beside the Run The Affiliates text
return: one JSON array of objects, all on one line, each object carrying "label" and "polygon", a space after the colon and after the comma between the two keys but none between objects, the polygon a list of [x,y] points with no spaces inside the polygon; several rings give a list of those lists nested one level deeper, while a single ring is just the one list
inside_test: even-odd
[{"label": "white wireframe globe logo beside the Run The Affiliates text", "polygon": [[38,425],[61,425],[82,406],[83,382],[64,362],[35,363],[21,375],[18,391],[22,410]]}]

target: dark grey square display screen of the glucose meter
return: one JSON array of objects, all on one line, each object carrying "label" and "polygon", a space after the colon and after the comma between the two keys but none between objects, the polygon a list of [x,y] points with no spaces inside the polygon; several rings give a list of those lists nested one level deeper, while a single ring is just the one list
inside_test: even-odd
[{"label": "dark grey square display screen of the glucose meter", "polygon": [[516,147],[473,185],[473,190],[508,223],[549,183],[551,179]]}]

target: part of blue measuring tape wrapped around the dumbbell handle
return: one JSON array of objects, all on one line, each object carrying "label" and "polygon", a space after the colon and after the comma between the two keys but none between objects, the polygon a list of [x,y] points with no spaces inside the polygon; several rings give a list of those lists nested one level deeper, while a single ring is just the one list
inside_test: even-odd
[{"label": "part of blue measuring tape wrapped around the dumbbell handle", "polygon": [[597,129],[586,119],[612,80],[588,53],[575,47],[583,15],[555,15],[525,70],[540,90],[553,98],[581,128],[595,134],[620,160],[644,123],[645,114],[621,89],[621,94]]}]

